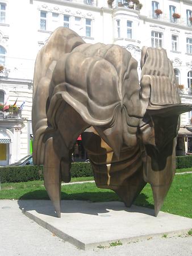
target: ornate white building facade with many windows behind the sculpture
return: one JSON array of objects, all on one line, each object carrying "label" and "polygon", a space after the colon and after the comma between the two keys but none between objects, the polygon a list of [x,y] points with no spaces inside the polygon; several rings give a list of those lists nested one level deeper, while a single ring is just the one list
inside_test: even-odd
[{"label": "ornate white building facade with many windows behind the sculpture", "polygon": [[[138,71],[143,46],[165,48],[182,102],[192,103],[191,16],[191,0],[0,0],[0,106],[8,97],[10,105],[24,102],[16,114],[0,109],[0,165],[30,154],[34,64],[55,28],[69,27],[86,43],[119,44],[138,61]],[[181,126],[190,126],[191,117],[182,114]]]}]

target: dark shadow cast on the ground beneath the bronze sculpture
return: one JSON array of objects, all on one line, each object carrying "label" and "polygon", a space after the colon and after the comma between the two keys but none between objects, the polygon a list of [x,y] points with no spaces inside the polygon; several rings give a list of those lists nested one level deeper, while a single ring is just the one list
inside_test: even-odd
[{"label": "dark shadow cast on the ground beneath the bronze sculpture", "polygon": [[[82,192],[73,193],[72,195],[61,192],[61,198],[65,199],[61,200],[61,213],[84,213],[99,215],[108,213],[108,209],[110,209],[116,211],[125,210],[126,212],[136,212],[154,216],[153,209],[135,205],[127,208],[124,206],[123,202],[120,202],[118,196],[116,196],[116,201],[114,201],[114,196],[116,196],[116,194],[114,195],[114,192]],[[37,200],[33,200],[34,198]],[[93,201],[98,201],[98,198],[100,201],[103,199],[103,201],[93,203]],[[153,205],[148,203],[147,196],[144,195],[144,193],[141,193],[137,199],[139,199],[140,205],[153,208]],[[25,211],[35,210],[40,214],[57,217],[47,192],[44,190],[37,190],[24,194],[18,200],[18,204],[19,208],[24,208]],[[103,217],[105,217],[105,215]]]}]

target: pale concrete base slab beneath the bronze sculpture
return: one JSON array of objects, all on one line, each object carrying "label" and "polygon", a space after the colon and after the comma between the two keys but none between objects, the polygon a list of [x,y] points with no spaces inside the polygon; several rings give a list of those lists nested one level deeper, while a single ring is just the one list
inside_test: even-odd
[{"label": "pale concrete base slab beneath the bronze sculpture", "polygon": [[51,201],[20,200],[19,206],[39,225],[83,250],[116,241],[182,234],[192,228],[191,218],[164,212],[155,217],[153,209],[126,208],[116,201],[61,201],[61,218],[56,217]]}]

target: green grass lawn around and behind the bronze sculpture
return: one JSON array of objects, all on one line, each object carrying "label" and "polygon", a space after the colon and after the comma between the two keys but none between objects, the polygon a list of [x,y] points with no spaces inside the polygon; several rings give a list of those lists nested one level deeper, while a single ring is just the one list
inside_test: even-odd
[{"label": "green grass lawn around and behind the bronze sculpture", "polygon": [[[72,181],[91,180],[93,177],[73,178]],[[100,189],[95,183],[72,184],[62,186],[63,200],[90,200],[93,202],[117,201],[119,197],[110,189]],[[43,181],[26,183],[3,183],[0,199],[48,199]],[[164,212],[192,218],[192,174],[176,175],[163,207]],[[152,191],[149,184],[135,201],[136,205],[153,208]]]}]

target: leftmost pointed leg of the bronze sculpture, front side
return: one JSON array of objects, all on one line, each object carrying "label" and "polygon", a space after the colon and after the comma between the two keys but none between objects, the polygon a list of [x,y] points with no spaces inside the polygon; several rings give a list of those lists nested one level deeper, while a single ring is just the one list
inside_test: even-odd
[{"label": "leftmost pointed leg of the bronze sculpture, front side", "polygon": [[45,143],[44,160],[44,185],[48,195],[55,207],[57,216],[61,217],[61,177],[60,159],[53,149],[53,138],[49,138]]}]

